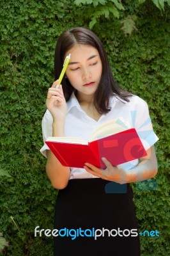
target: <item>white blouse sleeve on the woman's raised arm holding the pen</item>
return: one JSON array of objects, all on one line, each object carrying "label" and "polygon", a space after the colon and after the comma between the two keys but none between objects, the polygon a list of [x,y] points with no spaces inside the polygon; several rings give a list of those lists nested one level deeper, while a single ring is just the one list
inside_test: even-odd
[{"label": "white blouse sleeve on the woman's raised arm holding the pen", "polygon": [[47,150],[49,150],[49,147],[47,146],[47,144],[45,144],[45,140],[47,140],[48,137],[52,136],[52,121],[52,115],[50,114],[50,111],[47,109],[42,120],[42,134],[44,144],[43,147],[40,149],[40,152],[45,157],[47,157]]}]

